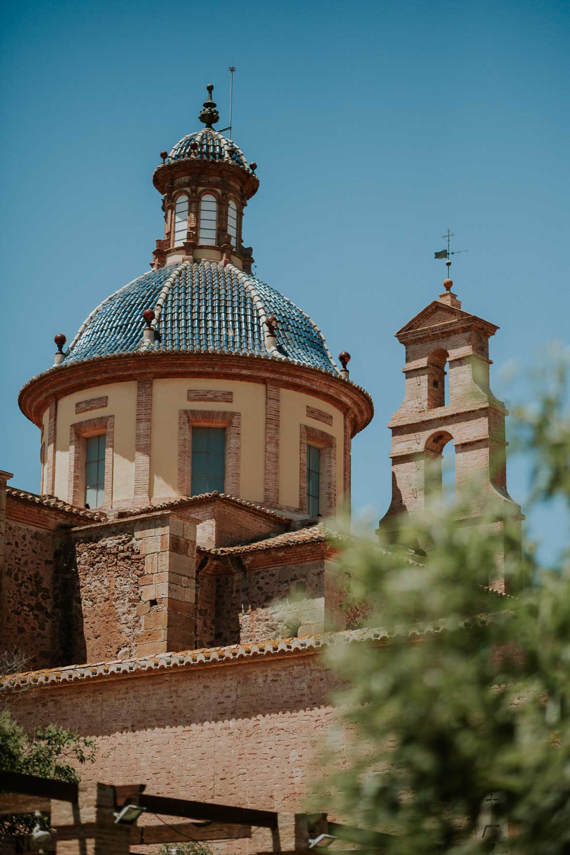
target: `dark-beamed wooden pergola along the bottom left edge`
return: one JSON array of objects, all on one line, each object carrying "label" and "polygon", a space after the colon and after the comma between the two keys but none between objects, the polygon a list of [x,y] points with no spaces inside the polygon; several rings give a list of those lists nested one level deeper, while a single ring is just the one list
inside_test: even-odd
[{"label": "dark-beamed wooden pergola along the bottom left edge", "polygon": [[[350,843],[353,855],[381,855],[391,839],[390,834],[331,823],[326,813],[278,813],[173,799],[145,793],[145,788],[144,784],[74,784],[0,772],[0,793],[4,793],[0,795],[0,816],[40,811],[50,814],[53,829],[51,839],[44,843],[36,842],[31,834],[0,838],[0,853],[41,848],[57,855],[129,855],[136,846],[248,838],[248,848],[255,855],[319,855],[326,852],[326,844],[337,840]],[[157,819],[156,823],[138,825],[143,814],[187,821],[165,823]],[[355,850],[355,845],[360,848]],[[337,846],[333,852],[343,855]]]}]

